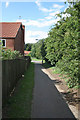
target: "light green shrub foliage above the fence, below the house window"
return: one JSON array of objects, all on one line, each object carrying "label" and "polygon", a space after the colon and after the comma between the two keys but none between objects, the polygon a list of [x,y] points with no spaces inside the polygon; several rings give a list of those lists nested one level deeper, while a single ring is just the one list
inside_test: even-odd
[{"label": "light green shrub foliage above the fence, below the house window", "polygon": [[21,58],[22,55],[19,51],[11,51],[10,49],[2,49],[2,59],[16,59]]}]

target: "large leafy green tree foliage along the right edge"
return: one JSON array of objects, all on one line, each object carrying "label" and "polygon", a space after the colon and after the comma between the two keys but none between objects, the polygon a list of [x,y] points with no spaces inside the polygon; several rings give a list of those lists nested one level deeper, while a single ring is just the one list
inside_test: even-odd
[{"label": "large leafy green tree foliage along the right edge", "polygon": [[[68,86],[80,84],[80,2],[70,5],[58,14],[60,21],[51,28],[45,39],[46,58],[65,72],[70,79]],[[63,17],[63,14],[66,17]]]}]

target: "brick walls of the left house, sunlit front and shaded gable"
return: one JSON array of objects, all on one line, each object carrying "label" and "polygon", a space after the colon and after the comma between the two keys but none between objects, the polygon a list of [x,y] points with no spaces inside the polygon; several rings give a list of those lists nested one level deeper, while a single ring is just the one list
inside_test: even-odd
[{"label": "brick walls of the left house, sunlit front and shaded gable", "polygon": [[20,27],[15,38],[5,38],[6,39],[6,49],[20,51],[24,55],[24,32],[25,27]]}]

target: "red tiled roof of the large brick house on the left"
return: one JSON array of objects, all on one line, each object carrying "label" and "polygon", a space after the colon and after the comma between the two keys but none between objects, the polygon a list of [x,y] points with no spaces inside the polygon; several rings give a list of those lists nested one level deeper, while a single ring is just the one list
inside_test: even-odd
[{"label": "red tiled roof of the large brick house on the left", "polygon": [[1,22],[0,23],[0,37],[2,38],[15,38],[20,28],[21,22]]}]

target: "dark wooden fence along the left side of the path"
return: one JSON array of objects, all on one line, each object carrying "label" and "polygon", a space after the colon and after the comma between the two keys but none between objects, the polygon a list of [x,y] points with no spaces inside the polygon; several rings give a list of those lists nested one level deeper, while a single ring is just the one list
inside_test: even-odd
[{"label": "dark wooden fence along the left side of the path", "polygon": [[30,57],[26,59],[13,59],[2,61],[2,105],[15,87],[17,81],[22,77],[30,63]]}]

